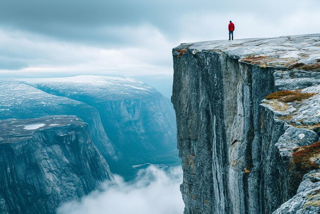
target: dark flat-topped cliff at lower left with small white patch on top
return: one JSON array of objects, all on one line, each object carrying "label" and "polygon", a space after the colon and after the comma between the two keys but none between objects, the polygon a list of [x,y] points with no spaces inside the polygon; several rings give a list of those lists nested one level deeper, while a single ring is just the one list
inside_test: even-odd
[{"label": "dark flat-topped cliff at lower left with small white patch on top", "polygon": [[2,120],[0,133],[1,213],[55,213],[112,179],[77,117]]}]

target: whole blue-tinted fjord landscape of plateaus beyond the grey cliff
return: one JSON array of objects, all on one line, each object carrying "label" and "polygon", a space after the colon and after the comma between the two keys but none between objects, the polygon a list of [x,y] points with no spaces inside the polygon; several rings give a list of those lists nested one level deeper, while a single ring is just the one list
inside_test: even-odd
[{"label": "whole blue-tinted fjord landscape of plateaus beyond the grey cliff", "polygon": [[172,104],[141,81],[2,79],[0,89],[4,213],[54,213],[112,174],[180,163]]}]

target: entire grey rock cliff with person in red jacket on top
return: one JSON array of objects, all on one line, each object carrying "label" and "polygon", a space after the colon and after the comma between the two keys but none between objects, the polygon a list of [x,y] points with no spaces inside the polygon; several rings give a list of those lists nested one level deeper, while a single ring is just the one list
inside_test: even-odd
[{"label": "entire grey rock cliff with person in red jacket on top", "polygon": [[319,36],[173,49],[185,213],[319,209]]}]

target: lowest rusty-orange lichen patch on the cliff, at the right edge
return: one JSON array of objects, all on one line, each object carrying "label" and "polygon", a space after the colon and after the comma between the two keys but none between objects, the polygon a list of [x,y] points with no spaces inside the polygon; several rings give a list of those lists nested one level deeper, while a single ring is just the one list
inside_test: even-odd
[{"label": "lowest rusty-orange lichen patch on the cliff, at the right edge", "polygon": [[320,142],[317,141],[311,145],[294,148],[292,153],[292,162],[297,171],[307,173],[309,170],[319,168],[319,165],[314,162],[319,155]]}]

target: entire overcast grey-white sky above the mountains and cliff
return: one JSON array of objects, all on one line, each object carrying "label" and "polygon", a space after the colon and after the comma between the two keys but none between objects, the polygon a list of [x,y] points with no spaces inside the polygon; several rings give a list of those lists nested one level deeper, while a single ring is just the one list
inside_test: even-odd
[{"label": "entire overcast grey-white sky above the mountains and cliff", "polygon": [[0,75],[172,74],[181,42],[320,33],[319,0],[0,3]]}]

